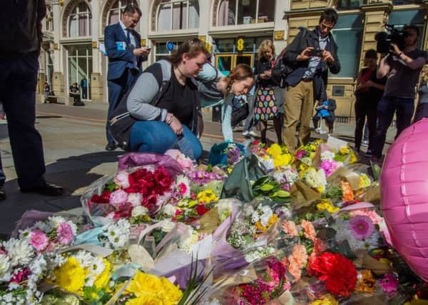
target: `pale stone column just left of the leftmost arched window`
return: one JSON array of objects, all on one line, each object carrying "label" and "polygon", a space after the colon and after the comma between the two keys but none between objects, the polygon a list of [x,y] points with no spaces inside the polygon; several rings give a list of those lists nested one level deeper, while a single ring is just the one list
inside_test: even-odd
[{"label": "pale stone column just left of the leftmost arched window", "polygon": [[54,14],[54,76],[52,77],[52,90],[56,96],[64,97],[64,83],[63,83],[63,59],[61,52],[61,8],[62,6],[56,2],[52,5],[52,11]]}]

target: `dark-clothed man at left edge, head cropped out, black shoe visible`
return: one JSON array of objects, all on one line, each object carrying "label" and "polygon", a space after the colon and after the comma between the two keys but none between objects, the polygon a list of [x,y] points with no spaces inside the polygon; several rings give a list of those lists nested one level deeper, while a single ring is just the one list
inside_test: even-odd
[{"label": "dark-clothed man at left edge, head cropped out, black shoe visible", "polygon": [[[18,185],[22,192],[61,196],[44,179],[43,144],[36,130],[36,84],[45,0],[0,1],[0,101],[7,117]],[[6,194],[0,187],[0,199]]]}]

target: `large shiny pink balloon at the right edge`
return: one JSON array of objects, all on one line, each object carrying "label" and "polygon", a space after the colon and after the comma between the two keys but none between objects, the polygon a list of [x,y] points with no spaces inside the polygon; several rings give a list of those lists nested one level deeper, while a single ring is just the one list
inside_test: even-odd
[{"label": "large shiny pink balloon at the right edge", "polygon": [[380,175],[382,211],[392,245],[428,281],[428,119],[402,131]]}]

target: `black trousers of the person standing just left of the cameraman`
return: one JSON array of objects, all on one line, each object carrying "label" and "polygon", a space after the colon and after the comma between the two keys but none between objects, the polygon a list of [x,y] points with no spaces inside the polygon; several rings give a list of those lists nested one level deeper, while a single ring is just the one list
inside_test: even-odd
[{"label": "black trousers of the person standing just left of the cameraman", "polygon": [[367,128],[369,129],[369,146],[367,149],[372,150],[373,138],[376,134],[376,110],[377,103],[358,99],[355,102],[355,149],[360,149],[362,134],[364,131],[365,121],[367,119]]}]

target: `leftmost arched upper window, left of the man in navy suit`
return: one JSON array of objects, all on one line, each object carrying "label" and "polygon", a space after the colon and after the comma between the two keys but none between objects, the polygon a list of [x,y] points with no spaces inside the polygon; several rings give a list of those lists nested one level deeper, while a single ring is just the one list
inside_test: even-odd
[{"label": "leftmost arched upper window, left of the man in navy suit", "polygon": [[68,16],[68,37],[91,36],[91,19],[88,4],[77,4]]}]

